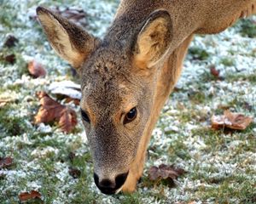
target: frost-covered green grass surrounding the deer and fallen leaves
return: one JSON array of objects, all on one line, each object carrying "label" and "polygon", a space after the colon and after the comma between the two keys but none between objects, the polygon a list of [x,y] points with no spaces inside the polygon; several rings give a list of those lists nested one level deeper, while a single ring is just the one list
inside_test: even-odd
[{"label": "frost-covered green grass surrounding the deer and fallen leaves", "polygon": [[[87,30],[102,37],[118,1],[1,1],[0,55],[16,56],[14,65],[0,61],[0,98],[12,100],[0,108],[0,157],[14,158],[13,166],[0,169],[1,204],[17,203],[20,192],[30,190],[38,190],[44,203],[256,202],[255,120],[242,132],[210,127],[211,116],[226,108],[256,116],[256,38],[251,21],[240,21],[219,35],[195,37],[183,75],[154,129],[137,192],[107,196],[93,183],[81,122],[69,134],[55,124],[32,123],[39,105],[37,91],[47,91],[51,82],[78,81],[49,47],[38,23],[29,18],[38,4],[83,8]],[[19,39],[15,48],[3,48],[9,34]],[[31,59],[46,67],[47,77],[28,75],[26,63]],[[210,74],[212,65],[221,80]],[[79,107],[71,106],[79,113]],[[187,171],[175,188],[148,179],[148,167],[161,163]],[[70,176],[69,167],[78,168],[80,177]]]}]

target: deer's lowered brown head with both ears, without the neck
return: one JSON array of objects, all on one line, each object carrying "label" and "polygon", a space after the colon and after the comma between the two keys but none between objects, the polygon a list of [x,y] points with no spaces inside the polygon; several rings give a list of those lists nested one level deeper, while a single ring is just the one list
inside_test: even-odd
[{"label": "deer's lowered brown head with both ears, without the neck", "polygon": [[172,41],[170,15],[156,10],[125,40],[111,35],[100,40],[46,8],[37,13],[52,48],[81,77],[81,115],[96,186],[116,193],[152,118],[158,70]]}]

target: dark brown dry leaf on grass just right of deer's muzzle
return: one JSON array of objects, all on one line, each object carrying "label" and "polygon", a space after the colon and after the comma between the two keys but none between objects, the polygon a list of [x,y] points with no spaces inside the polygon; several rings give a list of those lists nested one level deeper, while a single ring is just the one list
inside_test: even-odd
[{"label": "dark brown dry leaf on grass just right of deer's muzzle", "polygon": [[148,170],[150,180],[172,178],[177,179],[180,175],[183,175],[185,171],[182,168],[174,167],[173,165],[167,166],[161,164],[159,167],[150,167]]}]

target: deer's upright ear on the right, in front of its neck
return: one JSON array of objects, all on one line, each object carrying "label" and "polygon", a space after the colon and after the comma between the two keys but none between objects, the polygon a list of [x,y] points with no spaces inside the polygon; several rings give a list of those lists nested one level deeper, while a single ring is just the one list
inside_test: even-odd
[{"label": "deer's upright ear on the right, in front of its neck", "polygon": [[140,68],[156,65],[166,54],[172,41],[172,19],[166,10],[149,15],[134,45],[134,62]]}]

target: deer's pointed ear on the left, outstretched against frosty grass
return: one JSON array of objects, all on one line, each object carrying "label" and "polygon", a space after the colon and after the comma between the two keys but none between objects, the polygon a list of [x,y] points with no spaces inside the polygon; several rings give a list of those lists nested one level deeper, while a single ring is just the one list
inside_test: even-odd
[{"label": "deer's pointed ear on the left, outstretched against frosty grass", "polygon": [[38,7],[37,14],[51,47],[79,71],[99,40],[49,9]]}]

